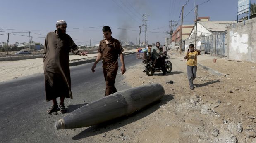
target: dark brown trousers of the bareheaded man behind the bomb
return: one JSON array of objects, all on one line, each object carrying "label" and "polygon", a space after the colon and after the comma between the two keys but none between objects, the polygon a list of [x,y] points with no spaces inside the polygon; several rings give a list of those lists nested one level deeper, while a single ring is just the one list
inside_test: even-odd
[{"label": "dark brown trousers of the bareheaded man behind the bomb", "polygon": [[110,69],[103,68],[103,73],[106,81],[105,96],[108,96],[110,94],[117,92],[117,89],[115,88],[115,77],[117,76],[117,70],[118,68],[110,68]]}]

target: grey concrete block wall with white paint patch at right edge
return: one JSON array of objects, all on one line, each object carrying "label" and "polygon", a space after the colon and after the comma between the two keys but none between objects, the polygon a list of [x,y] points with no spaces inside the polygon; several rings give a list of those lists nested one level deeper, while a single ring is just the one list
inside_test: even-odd
[{"label": "grey concrete block wall with white paint patch at right edge", "polygon": [[227,28],[228,59],[256,63],[256,19],[249,19]]}]

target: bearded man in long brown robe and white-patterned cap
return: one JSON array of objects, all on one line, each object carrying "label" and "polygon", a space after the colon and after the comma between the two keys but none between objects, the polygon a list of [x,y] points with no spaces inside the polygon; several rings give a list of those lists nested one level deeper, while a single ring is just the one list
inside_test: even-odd
[{"label": "bearded man in long brown robe and white-patterned cap", "polygon": [[71,98],[71,82],[69,70],[69,52],[87,56],[85,51],[79,51],[72,38],[66,34],[67,23],[58,20],[54,32],[46,35],[43,49],[43,70],[45,76],[46,101],[53,100],[53,106],[47,111],[56,112],[60,97],[60,112],[66,113],[64,99]]}]

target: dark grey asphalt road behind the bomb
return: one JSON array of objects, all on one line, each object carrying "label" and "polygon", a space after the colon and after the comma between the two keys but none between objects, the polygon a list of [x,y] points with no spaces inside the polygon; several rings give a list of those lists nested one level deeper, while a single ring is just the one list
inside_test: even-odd
[{"label": "dark grey asphalt road behind the bomb", "polygon": [[[124,56],[124,59],[128,70],[133,68],[133,65],[141,63],[141,60],[136,60],[136,54]],[[91,72],[92,64],[70,68],[74,99],[65,100],[68,112],[105,95],[102,64],[97,64],[95,73]],[[119,72],[116,80],[117,90],[129,87],[121,80],[122,75]],[[46,113],[51,103],[45,101],[44,88],[42,73],[0,83],[0,142],[74,142],[72,137],[84,130],[54,129],[55,121],[66,114]],[[87,142],[88,139],[77,141]]]}]

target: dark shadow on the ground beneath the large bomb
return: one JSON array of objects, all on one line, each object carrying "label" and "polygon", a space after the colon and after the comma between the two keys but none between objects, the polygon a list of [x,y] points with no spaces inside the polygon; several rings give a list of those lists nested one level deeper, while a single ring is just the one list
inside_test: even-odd
[{"label": "dark shadow on the ground beneath the large bomb", "polygon": [[160,99],[160,101],[156,101],[154,103],[151,103],[147,105],[146,107],[140,109],[139,111],[136,111],[130,115],[119,117],[107,122],[103,122],[101,124],[93,125],[84,131],[80,132],[76,136],[74,136],[73,140],[79,140],[82,138],[87,138],[90,136],[95,136],[98,134],[103,134],[106,132],[106,128],[108,127],[108,131],[111,131],[113,129],[118,129],[120,127],[123,127],[127,124],[130,124],[132,122],[135,122],[137,120],[140,120],[151,113],[155,112],[160,108],[161,105],[166,104],[168,101],[174,99],[174,95],[164,95],[163,98]]}]

